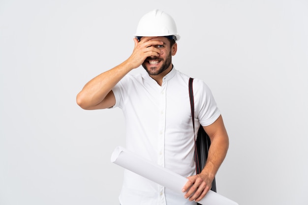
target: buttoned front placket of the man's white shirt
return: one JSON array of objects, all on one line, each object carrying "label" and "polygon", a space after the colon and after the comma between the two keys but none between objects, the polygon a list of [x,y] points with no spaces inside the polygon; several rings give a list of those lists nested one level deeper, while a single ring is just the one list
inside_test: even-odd
[{"label": "buttoned front placket of the man's white shirt", "polygon": [[[159,130],[158,130],[158,158],[157,164],[165,167],[165,128],[166,128],[166,88],[167,81],[163,78],[160,89]],[[166,205],[165,188],[159,185],[160,205]]]}]

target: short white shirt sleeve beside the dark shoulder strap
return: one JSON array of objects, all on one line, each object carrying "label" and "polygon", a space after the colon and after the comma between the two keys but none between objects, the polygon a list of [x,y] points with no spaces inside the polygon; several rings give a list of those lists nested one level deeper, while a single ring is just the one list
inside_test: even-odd
[{"label": "short white shirt sleeve beside the dark shoulder strap", "polygon": [[193,81],[195,115],[202,126],[208,126],[220,116],[220,110],[211,89],[199,79]]}]

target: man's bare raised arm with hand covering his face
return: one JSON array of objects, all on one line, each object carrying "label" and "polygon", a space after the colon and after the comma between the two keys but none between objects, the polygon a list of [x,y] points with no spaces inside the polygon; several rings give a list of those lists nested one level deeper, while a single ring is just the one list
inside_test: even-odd
[{"label": "man's bare raised arm with hand covering his face", "polygon": [[135,47],[131,56],[120,65],[101,73],[89,81],[77,94],[77,104],[85,110],[105,109],[115,105],[112,88],[132,69],[139,67],[147,57],[159,56],[161,51],[152,45],[163,42],[144,37],[139,42],[134,38]]}]

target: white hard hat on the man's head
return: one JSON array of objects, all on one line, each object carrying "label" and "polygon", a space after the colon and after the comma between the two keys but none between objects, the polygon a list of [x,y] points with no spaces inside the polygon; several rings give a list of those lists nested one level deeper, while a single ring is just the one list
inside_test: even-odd
[{"label": "white hard hat on the man's head", "polygon": [[145,14],[139,21],[135,36],[173,36],[174,40],[179,40],[180,35],[173,18],[158,9]]}]

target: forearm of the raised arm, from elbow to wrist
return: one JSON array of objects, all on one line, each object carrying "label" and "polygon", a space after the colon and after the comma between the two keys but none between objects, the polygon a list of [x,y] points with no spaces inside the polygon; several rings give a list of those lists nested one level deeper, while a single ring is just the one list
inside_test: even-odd
[{"label": "forearm of the raised arm, from elbow to wrist", "polygon": [[112,88],[132,69],[126,60],[120,65],[96,76],[77,94],[77,104],[83,109],[95,107],[105,99]]}]

